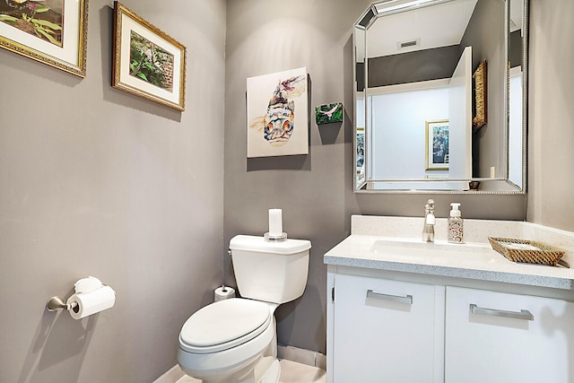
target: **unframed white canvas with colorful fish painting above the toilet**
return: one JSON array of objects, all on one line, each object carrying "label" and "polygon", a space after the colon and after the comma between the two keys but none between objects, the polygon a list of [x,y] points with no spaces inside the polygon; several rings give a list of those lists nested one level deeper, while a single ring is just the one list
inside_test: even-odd
[{"label": "unframed white canvas with colorful fish painting above the toilet", "polygon": [[247,80],[248,158],[309,153],[307,69]]}]

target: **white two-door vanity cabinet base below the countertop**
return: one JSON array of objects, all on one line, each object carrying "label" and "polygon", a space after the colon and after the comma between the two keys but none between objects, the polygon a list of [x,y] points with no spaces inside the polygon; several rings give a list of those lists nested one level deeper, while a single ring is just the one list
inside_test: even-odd
[{"label": "white two-door vanity cabinet base below the countertop", "polygon": [[570,300],[330,270],[327,382],[574,382]]}]

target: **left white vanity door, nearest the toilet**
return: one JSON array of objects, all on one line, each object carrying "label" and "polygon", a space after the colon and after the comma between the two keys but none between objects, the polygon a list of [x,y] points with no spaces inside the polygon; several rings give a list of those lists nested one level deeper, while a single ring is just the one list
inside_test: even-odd
[{"label": "left white vanity door, nearest the toilet", "polygon": [[444,287],[335,275],[333,381],[442,382]]}]

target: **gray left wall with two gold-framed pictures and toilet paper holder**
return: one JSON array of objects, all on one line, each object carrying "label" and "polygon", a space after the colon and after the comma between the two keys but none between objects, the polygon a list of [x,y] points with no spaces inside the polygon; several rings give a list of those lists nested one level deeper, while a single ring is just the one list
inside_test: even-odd
[{"label": "gray left wall with two gold-framed pictures and toilet paper holder", "polygon": [[[152,382],[221,283],[225,2],[130,3],[187,46],[183,113],[111,88],[109,1],[83,80],[0,49],[2,382]],[[44,309],[88,275],[113,309]]]}]

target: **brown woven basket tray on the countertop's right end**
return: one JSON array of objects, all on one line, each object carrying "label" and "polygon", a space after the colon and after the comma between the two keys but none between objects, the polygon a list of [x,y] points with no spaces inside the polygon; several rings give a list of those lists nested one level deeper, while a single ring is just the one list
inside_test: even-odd
[{"label": "brown woven basket tray on the countertop's right end", "polygon": [[491,246],[512,262],[556,265],[564,251],[535,240],[489,237]]}]

